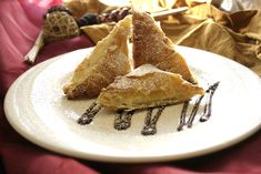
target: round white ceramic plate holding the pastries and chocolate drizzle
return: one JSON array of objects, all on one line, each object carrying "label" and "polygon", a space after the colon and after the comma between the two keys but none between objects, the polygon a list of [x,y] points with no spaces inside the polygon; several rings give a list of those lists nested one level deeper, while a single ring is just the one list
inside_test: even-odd
[{"label": "round white ceramic plate holding the pastries and chocolate drizzle", "polygon": [[77,119],[92,101],[68,101],[61,88],[91,49],[60,55],[22,74],[6,96],[8,121],[22,136],[48,150],[120,163],[199,156],[228,147],[257,132],[261,125],[260,79],[223,57],[185,47],[177,49],[201,85],[205,88],[207,83],[220,81],[213,96],[212,116],[204,123],[195,122],[192,129],[177,131],[182,104],[163,111],[157,124],[158,133],[151,136],[141,135],[145,112],[134,114],[127,131],[114,130],[114,114],[104,110],[91,124],[79,125]]}]

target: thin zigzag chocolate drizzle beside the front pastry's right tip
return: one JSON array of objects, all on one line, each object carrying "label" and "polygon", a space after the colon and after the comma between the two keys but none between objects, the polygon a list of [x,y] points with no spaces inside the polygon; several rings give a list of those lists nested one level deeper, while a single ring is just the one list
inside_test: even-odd
[{"label": "thin zigzag chocolate drizzle beside the front pastry's right tip", "polygon": [[197,99],[194,106],[190,113],[188,122],[185,122],[185,117],[187,117],[187,111],[188,111],[188,105],[189,105],[190,101],[187,101],[183,104],[183,109],[181,111],[181,116],[180,116],[180,123],[177,129],[178,131],[182,131],[185,125],[187,125],[187,127],[192,127],[193,121],[194,121],[195,115],[199,111],[200,103],[204,96],[207,96],[207,100],[205,100],[203,113],[200,117],[200,122],[205,122],[207,120],[210,119],[211,108],[212,108],[212,99],[213,99],[213,94],[214,94],[217,88],[219,86],[219,83],[220,82],[217,82],[213,85],[210,85],[209,89],[205,91],[205,95],[201,95]]}]

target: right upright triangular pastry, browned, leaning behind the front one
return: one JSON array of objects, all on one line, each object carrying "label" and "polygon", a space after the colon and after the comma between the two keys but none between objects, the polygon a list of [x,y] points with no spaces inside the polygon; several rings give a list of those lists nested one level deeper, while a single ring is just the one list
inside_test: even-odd
[{"label": "right upright triangular pastry, browned, leaning behind the front one", "polygon": [[149,63],[173,73],[179,73],[191,83],[197,83],[181,54],[174,51],[172,42],[150,14],[132,11],[134,68]]}]

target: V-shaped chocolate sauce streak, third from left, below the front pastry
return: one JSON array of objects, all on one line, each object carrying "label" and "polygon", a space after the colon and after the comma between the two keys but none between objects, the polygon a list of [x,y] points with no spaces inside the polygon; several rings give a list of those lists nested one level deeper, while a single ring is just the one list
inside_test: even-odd
[{"label": "V-shaped chocolate sauce streak, third from left, below the front pastry", "polygon": [[141,134],[142,135],[153,135],[157,133],[157,122],[161,115],[161,113],[163,112],[163,110],[165,109],[165,106],[160,106],[158,108],[159,110],[157,111],[157,113],[154,114],[154,116],[152,117],[152,111],[153,109],[157,109],[157,108],[150,108],[148,109],[148,112],[147,112],[147,116],[145,116],[145,120],[144,120],[144,126],[141,131]]}]

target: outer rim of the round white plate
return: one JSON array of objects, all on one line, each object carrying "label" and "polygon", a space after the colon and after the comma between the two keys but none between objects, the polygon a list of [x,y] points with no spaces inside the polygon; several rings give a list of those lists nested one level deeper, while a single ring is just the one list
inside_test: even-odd
[{"label": "outer rim of the round white plate", "polygon": [[[187,47],[177,47],[177,48],[187,48]],[[87,48],[87,49],[80,49],[80,50],[76,50],[76,51],[84,51],[84,50],[89,50],[89,49],[92,49],[92,48]],[[194,48],[189,48],[189,49],[194,49]],[[194,50],[199,50],[199,49],[194,49]],[[69,53],[64,53],[67,55],[69,54],[73,54],[76,51],[72,51],[72,52],[69,52]],[[208,52],[208,51],[204,51],[204,50],[200,50],[200,51],[203,51],[203,52]],[[215,54],[215,53],[212,53],[212,52],[208,52],[208,53],[211,53],[211,54]],[[34,139],[32,136],[32,134],[26,132],[24,130],[22,130],[21,127],[18,126],[18,124],[12,120],[12,116],[11,116],[11,112],[9,110],[9,102],[11,101],[11,93],[13,93],[13,91],[16,90],[17,85],[19,84],[20,81],[22,81],[22,79],[24,76],[27,76],[28,74],[30,74],[32,71],[34,71],[36,69],[38,69],[39,66],[42,66],[42,65],[46,65],[48,66],[49,64],[51,64],[52,62],[56,62],[60,57],[63,57],[64,54],[61,54],[61,55],[58,55],[58,57],[54,57],[54,58],[51,58],[47,61],[43,61],[39,64],[37,64],[36,66],[29,69],[28,71],[26,71],[24,73],[22,73],[12,84],[11,86],[9,88],[6,96],[4,96],[4,102],[3,102],[3,111],[6,113],[6,117],[8,120],[8,122],[11,124],[11,126],[20,134],[22,135],[24,139],[27,139],[28,141],[30,141],[31,143],[38,145],[38,146],[41,146],[41,147],[44,147],[47,150],[50,150],[52,152],[56,152],[56,153],[59,153],[59,154],[63,154],[66,156],[72,156],[72,157],[77,157],[77,158],[82,158],[82,160],[92,160],[92,161],[98,161],[98,162],[109,162],[109,163],[149,163],[149,162],[165,162],[165,161],[178,161],[178,160],[185,160],[185,158],[192,158],[192,157],[197,157],[197,156],[202,156],[202,155],[207,155],[207,154],[210,154],[210,153],[214,153],[214,152],[219,152],[221,150],[224,150],[227,147],[230,147],[234,144],[238,144],[239,142],[245,140],[247,137],[251,136],[252,134],[254,134],[255,132],[258,132],[260,129],[261,129],[261,122],[260,123],[257,123],[257,125],[254,126],[254,129],[251,129],[249,130],[248,132],[245,132],[243,135],[239,136],[238,139],[235,140],[231,140],[230,142],[227,142],[225,144],[219,144],[219,145],[215,145],[215,146],[211,146],[209,149],[204,149],[204,150],[201,150],[201,151],[197,151],[197,152],[193,152],[193,153],[190,153],[190,155],[188,156],[188,154],[181,154],[181,155],[173,155],[173,154],[170,154],[170,155],[164,155],[164,156],[110,156],[110,155],[99,155],[99,154],[91,154],[91,153],[84,153],[84,154],[80,154],[80,152],[73,152],[71,150],[68,150],[67,147],[63,147],[63,149],[60,149],[60,147],[57,147],[56,145],[50,145],[48,143],[46,143],[44,141],[39,141],[38,139]],[[219,55],[219,54],[215,54],[222,59],[227,59],[233,63],[237,63],[238,65],[241,65],[243,66],[242,64],[239,64],[238,62],[234,62],[225,57],[222,57],[222,55]],[[250,69],[243,66],[245,70],[252,72],[253,75],[255,75],[255,78],[259,78],[253,71],[251,71]],[[260,78],[259,78],[260,79]],[[260,80],[260,84],[261,84],[261,80]]]}]

